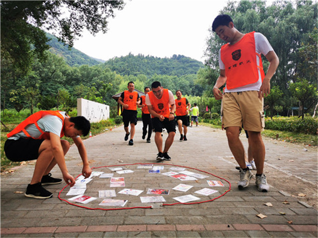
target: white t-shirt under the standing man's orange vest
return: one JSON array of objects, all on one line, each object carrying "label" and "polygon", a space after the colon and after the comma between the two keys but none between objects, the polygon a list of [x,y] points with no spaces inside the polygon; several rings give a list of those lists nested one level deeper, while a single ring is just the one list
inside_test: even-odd
[{"label": "white t-shirt under the standing man's orange vest", "polygon": [[[267,38],[259,33],[254,33],[254,39],[255,39],[255,50],[256,53],[267,55],[268,52],[273,51],[272,46],[269,44]],[[257,65],[259,65],[259,57],[256,55],[256,61]],[[219,51],[219,66],[220,70],[225,70],[225,65],[221,60],[221,49]],[[241,91],[259,91],[260,86],[262,85],[262,79],[260,75],[259,68],[257,68],[258,71],[258,81],[254,83],[250,83],[241,87],[232,88],[232,89],[225,89],[224,92],[241,92]]]}]

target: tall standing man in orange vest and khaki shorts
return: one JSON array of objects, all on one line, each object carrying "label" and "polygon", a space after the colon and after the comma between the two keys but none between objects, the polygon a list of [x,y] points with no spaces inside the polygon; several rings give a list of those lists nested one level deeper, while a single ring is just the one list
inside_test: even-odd
[{"label": "tall standing man in orange vest and khaki shorts", "polygon": [[[269,186],[263,173],[265,146],[261,131],[264,130],[263,97],[270,92],[279,59],[264,35],[258,32],[243,34],[234,27],[229,15],[218,15],[212,30],[227,42],[219,53],[220,76],[213,87],[214,97],[223,100],[223,126],[229,147],[240,166],[239,189],[248,186],[253,177],[244,161],[244,148],[239,139],[242,124],[250,137],[252,155],[256,164],[256,186],[267,192]],[[262,68],[261,54],[269,61],[266,75]],[[220,87],[224,84],[224,95]]]}]

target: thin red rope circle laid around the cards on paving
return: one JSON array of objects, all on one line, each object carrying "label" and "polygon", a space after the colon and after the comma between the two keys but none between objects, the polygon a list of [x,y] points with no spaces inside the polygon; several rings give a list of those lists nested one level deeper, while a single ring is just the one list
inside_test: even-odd
[{"label": "thin red rope circle laid around the cards on paving", "polygon": [[[130,163],[130,164],[120,164],[120,166],[125,166],[125,165],[136,165],[136,164],[148,164],[148,163]],[[231,183],[226,180],[225,178],[222,178],[222,177],[219,177],[215,174],[212,174],[212,173],[209,173],[207,171],[204,171],[204,170],[201,170],[201,169],[198,169],[198,168],[191,168],[191,167],[188,167],[188,166],[183,166],[183,165],[176,165],[176,164],[170,164],[170,163],[151,163],[151,164],[165,164],[165,165],[171,165],[171,166],[178,166],[178,167],[184,167],[184,168],[190,168],[190,169],[195,169],[195,170],[198,170],[200,172],[204,172],[204,173],[208,173],[214,177],[217,177],[217,178],[220,178],[220,179],[223,179],[225,180],[226,182],[229,183],[229,189],[227,191],[225,191],[222,195],[216,197],[216,198],[213,198],[211,200],[206,200],[206,201],[202,201],[202,202],[191,202],[191,203],[181,203],[181,202],[177,202],[177,203],[170,203],[170,204],[162,204],[162,206],[172,206],[172,205],[175,205],[175,204],[199,204],[199,203],[206,203],[206,202],[212,202],[222,196],[224,196],[225,194],[227,194],[228,192],[231,191]],[[105,166],[100,166],[100,167],[92,167],[92,169],[95,169],[95,168],[103,168],[103,167],[113,167],[113,166],[119,166],[118,164],[116,165],[105,165]],[[79,174],[76,178],[78,178],[81,174]],[[153,208],[153,206],[148,206],[148,207],[125,207],[125,208],[109,208],[109,209],[106,209],[106,208],[89,208],[89,207],[85,207],[85,206],[80,206],[80,205],[77,205],[77,204],[74,204],[74,203],[71,203],[69,202],[68,200],[65,200],[63,198],[60,197],[61,195],[61,192],[69,185],[66,185],[60,192],[59,192],[59,199],[61,201],[64,201],[64,202],[67,202],[68,204],[70,205],[73,205],[73,206],[76,206],[76,207],[81,207],[81,208],[85,208],[85,209],[89,209],[89,210],[105,210],[105,211],[108,211],[108,210],[124,210],[124,209],[134,209],[134,208]]]}]

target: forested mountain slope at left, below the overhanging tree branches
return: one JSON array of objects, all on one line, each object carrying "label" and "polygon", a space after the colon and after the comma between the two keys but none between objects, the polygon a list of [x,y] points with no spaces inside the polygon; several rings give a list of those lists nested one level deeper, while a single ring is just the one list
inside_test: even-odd
[{"label": "forested mountain slope at left, below the overhanging tree branches", "polygon": [[58,41],[58,39],[54,35],[51,35],[50,33],[46,33],[46,37],[51,39],[47,43],[49,46],[51,46],[49,51],[55,55],[62,57],[69,66],[74,66],[74,65],[93,66],[93,65],[98,65],[105,62],[103,60],[89,57],[88,55],[85,55],[84,53],[80,52],[79,50],[73,47],[71,48],[71,50],[69,50],[68,45],[64,45],[62,42]]}]

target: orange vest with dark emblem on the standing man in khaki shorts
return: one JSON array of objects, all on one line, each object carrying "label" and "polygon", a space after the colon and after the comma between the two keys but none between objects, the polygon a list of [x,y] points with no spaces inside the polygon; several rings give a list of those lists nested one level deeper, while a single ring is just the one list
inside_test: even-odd
[{"label": "orange vest with dark emblem on the standing man in khaki shorts", "polygon": [[[256,55],[259,57],[259,66]],[[225,65],[227,89],[257,82],[259,79],[257,69],[260,70],[262,81],[265,77],[261,56],[255,50],[254,31],[245,34],[234,45],[223,45],[221,47],[221,60]]]}]

